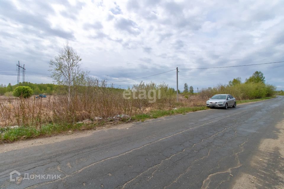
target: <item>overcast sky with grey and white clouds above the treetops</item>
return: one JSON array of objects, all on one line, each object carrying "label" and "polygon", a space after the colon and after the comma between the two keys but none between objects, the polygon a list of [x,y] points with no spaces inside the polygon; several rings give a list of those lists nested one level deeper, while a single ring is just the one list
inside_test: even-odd
[{"label": "overcast sky with grey and white clouds above the treetops", "polygon": [[[0,0],[0,84],[51,83],[49,61],[66,40],[90,75],[122,81],[180,68],[284,61],[284,1]],[[284,63],[180,70],[179,89],[242,81],[262,71],[284,89]],[[38,74],[38,75],[36,75]],[[22,77],[21,77],[22,80]],[[143,79],[176,88],[176,72]],[[141,79],[115,84],[125,87]]]}]

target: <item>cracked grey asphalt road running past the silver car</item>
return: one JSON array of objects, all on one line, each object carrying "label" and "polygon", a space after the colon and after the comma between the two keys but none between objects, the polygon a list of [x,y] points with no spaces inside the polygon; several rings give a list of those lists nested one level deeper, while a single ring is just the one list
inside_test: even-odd
[{"label": "cracked grey asphalt road running past the silver car", "polygon": [[[283,113],[284,97],[278,96],[7,151],[0,154],[0,188],[227,189],[242,174],[259,170],[265,172],[259,188],[283,187],[283,146],[265,153],[269,165],[259,170],[251,165],[262,140],[279,138],[276,125]],[[21,174],[15,182],[9,180],[13,170]],[[28,174],[41,178],[25,179]]]}]

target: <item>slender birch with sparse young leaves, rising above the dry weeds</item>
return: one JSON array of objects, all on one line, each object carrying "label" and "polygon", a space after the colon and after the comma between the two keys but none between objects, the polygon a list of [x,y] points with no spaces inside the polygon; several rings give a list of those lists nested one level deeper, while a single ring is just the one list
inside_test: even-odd
[{"label": "slender birch with sparse young leaves, rising above the dry weeds", "polygon": [[58,56],[50,60],[49,67],[52,68],[51,77],[58,85],[68,87],[68,107],[70,107],[70,89],[75,79],[80,75],[80,61],[82,58],[69,45],[68,41],[59,50]]}]

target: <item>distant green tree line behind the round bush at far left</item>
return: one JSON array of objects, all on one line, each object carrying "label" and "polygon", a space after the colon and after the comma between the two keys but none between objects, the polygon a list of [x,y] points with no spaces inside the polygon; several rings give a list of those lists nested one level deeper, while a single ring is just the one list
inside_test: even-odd
[{"label": "distant green tree line behind the round bush at far left", "polygon": [[23,83],[19,83],[16,85],[11,85],[11,83],[9,83],[7,86],[1,84],[0,85],[0,95],[4,95],[6,93],[7,96],[11,96],[14,89],[18,86],[30,87],[31,89],[33,89],[33,94],[35,95],[53,94],[55,87],[56,87],[55,84],[43,84],[43,83],[37,84],[37,83],[30,83],[30,82],[23,82]]}]

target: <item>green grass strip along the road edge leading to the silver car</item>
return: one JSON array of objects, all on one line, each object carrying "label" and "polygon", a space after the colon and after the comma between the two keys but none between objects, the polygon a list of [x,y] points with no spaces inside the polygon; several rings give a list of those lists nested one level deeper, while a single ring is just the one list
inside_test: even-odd
[{"label": "green grass strip along the road edge leading to the silver car", "polygon": [[180,107],[178,109],[173,109],[173,110],[152,110],[149,113],[134,115],[131,118],[132,120],[136,120],[136,121],[144,121],[146,119],[151,119],[151,118],[160,118],[160,117],[175,115],[175,114],[185,114],[188,112],[195,112],[195,111],[207,110],[207,109],[209,108],[206,106],[198,106],[198,107]]}]

